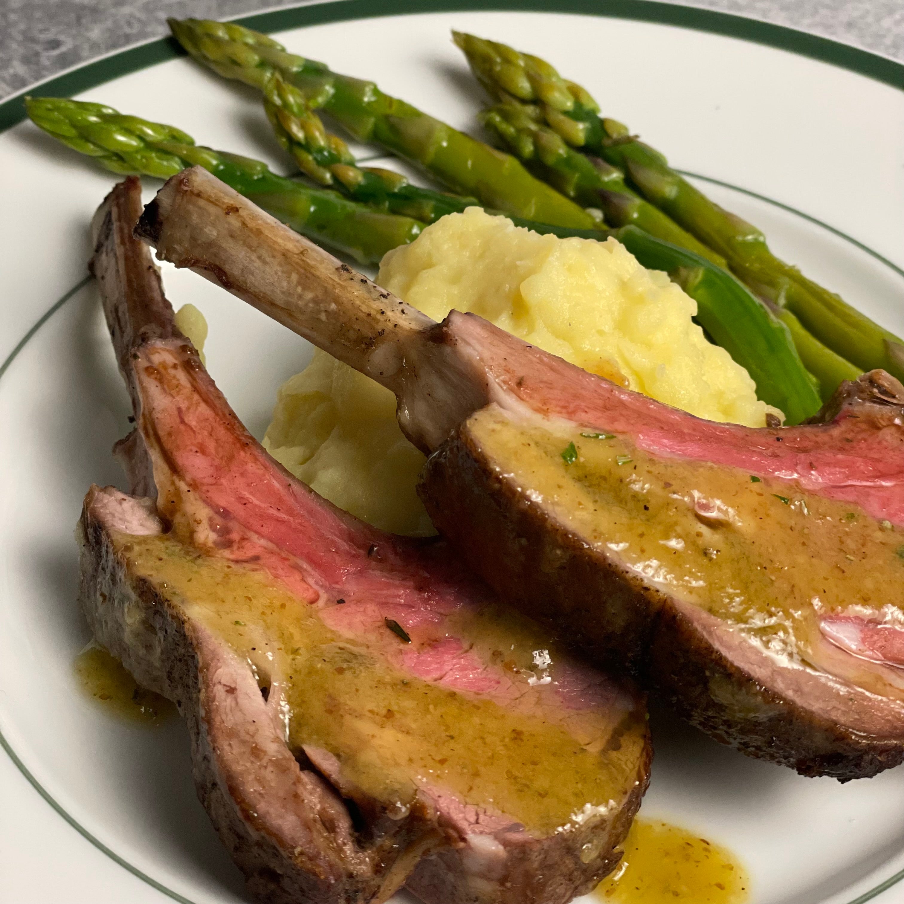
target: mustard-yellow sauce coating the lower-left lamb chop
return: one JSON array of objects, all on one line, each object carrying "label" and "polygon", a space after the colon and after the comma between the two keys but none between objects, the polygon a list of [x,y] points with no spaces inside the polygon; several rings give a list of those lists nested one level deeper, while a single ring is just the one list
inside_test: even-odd
[{"label": "mustard-yellow sauce coating the lower-left lamb chop", "polygon": [[[252,566],[206,556],[172,533],[114,539],[130,570],[247,659],[262,688],[278,689],[291,749],[327,749],[348,781],[388,806],[404,808],[417,786],[436,786],[549,833],[588,805],[620,802],[633,786],[642,712],[628,720],[616,751],[605,749],[616,728],[609,720],[624,720],[625,711],[568,711],[568,730],[538,711],[533,695],[555,691],[534,686],[543,683],[537,676],[555,681],[558,653],[510,610],[486,606],[444,625],[466,648],[484,651],[482,661],[498,658],[523,682],[523,702],[503,708],[400,671],[383,654],[413,650],[417,638],[401,645],[381,625],[385,647],[380,636],[364,645],[328,627],[319,605],[299,602]],[[351,603],[346,595],[345,606]]]}]

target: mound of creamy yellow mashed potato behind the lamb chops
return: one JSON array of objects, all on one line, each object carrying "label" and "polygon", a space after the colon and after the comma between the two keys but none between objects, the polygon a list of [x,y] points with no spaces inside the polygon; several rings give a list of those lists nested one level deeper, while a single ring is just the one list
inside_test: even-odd
[{"label": "mound of creamy yellow mashed potato behind the lamb chops", "polygon": [[[774,411],[692,322],[696,302],[614,239],[557,239],[471,208],[387,254],[377,282],[435,320],[453,308],[473,311],[701,418],[762,427]],[[316,352],[279,390],[264,445],[364,521],[433,532],[414,491],[424,457],[401,435],[394,397],[329,355]]]}]

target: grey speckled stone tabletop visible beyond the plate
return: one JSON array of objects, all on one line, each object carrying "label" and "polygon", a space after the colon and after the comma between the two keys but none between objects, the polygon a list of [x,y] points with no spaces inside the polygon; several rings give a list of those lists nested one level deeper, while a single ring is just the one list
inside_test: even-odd
[{"label": "grey speckled stone tabletop visible beyond the plate", "polygon": [[[229,19],[290,5],[298,0],[0,0],[0,99],[80,62],[160,37],[167,33],[167,16]],[[695,0],[693,5],[791,25],[904,61],[904,0]],[[425,0],[424,10],[429,8]]]}]

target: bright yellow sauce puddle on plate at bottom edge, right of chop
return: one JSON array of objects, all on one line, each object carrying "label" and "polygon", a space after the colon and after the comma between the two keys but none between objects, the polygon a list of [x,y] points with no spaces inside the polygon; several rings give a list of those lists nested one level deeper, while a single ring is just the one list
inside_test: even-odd
[{"label": "bright yellow sauce puddle on plate at bottom edge, right of chop", "polygon": [[744,904],[747,871],[719,844],[658,820],[636,819],[616,871],[597,887],[611,904]]}]

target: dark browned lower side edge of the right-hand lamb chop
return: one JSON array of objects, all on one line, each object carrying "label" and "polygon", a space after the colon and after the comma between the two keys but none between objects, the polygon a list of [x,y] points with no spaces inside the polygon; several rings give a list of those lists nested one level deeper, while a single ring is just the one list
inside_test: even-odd
[{"label": "dark browned lower side edge of the right-hand lamb chop", "polygon": [[638,676],[711,737],[803,775],[842,781],[904,759],[904,739],[818,716],[732,664],[702,636],[688,607],[645,587],[514,491],[472,441],[467,421],[428,458],[419,494],[439,531],[494,589],[592,664]]}]

